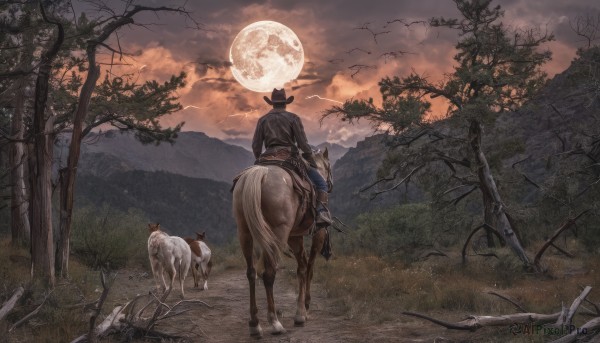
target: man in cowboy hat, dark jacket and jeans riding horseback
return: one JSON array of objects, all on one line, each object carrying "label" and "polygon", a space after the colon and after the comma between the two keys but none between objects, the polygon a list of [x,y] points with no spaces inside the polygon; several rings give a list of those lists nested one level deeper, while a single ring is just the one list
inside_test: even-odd
[{"label": "man in cowboy hat, dark jacket and jeans riding horseback", "polygon": [[[298,148],[304,152],[302,155],[309,163],[308,177],[317,189],[317,227],[331,225],[331,215],[327,209],[328,187],[327,182],[317,171],[317,163],[313,156],[313,149],[308,144],[304,133],[302,121],[298,115],[285,110],[286,105],[294,101],[294,97],[286,98],[285,89],[273,89],[271,99],[263,97],[265,101],[273,106],[267,114],[262,116],[256,124],[254,138],[252,139],[252,151],[258,159],[262,152],[263,143],[265,152],[275,152],[279,149],[288,149],[292,155],[297,154]],[[296,147],[296,144],[298,145]]]}]

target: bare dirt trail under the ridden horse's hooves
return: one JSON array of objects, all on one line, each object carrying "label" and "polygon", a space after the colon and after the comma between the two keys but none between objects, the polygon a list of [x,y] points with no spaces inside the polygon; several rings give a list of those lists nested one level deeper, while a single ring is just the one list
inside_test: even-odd
[{"label": "bare dirt trail under the ridden horse's hooves", "polygon": [[[343,312],[328,299],[322,287],[313,287],[310,318],[304,327],[295,327],[293,317],[296,311],[295,284],[289,277],[282,275],[294,268],[290,264],[278,273],[275,283],[275,301],[283,318],[281,323],[287,333],[279,336],[270,334],[266,320],[265,291],[261,282],[257,285],[257,303],[259,320],[263,328],[263,337],[255,339],[249,336],[248,319],[248,282],[244,269],[219,271],[211,275],[208,290],[193,288],[191,274],[186,279],[186,299],[198,299],[212,308],[200,307],[172,319],[168,325],[157,327],[160,331],[178,332],[190,337],[191,342],[481,342],[481,337],[469,337],[450,332],[443,328],[423,322],[400,321],[365,325],[347,319]],[[138,270],[124,270],[117,275],[111,296],[105,310],[115,303],[131,300],[137,294],[145,294],[153,287],[152,276]],[[178,285],[177,285],[178,287]],[[172,304],[179,300],[179,289],[174,287],[167,299]],[[400,311],[399,311],[400,312]],[[444,338],[442,338],[444,337]]]}]

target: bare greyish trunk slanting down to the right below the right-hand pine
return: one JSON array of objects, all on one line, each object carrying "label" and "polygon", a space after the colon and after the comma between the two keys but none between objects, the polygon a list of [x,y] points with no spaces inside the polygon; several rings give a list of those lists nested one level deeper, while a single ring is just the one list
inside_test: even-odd
[{"label": "bare greyish trunk slanting down to the right below the right-hand pine", "polygon": [[[483,193],[484,213],[486,220],[494,222],[494,228],[504,237],[506,243],[517,254],[519,259],[526,265],[531,266],[529,257],[525,253],[519,238],[513,231],[513,228],[504,211],[504,204],[496,187],[496,182],[490,171],[490,166],[481,149],[481,124],[477,120],[471,120],[469,126],[469,142],[475,158],[477,176],[479,178],[480,189]],[[489,217],[489,218],[487,218]]]}]

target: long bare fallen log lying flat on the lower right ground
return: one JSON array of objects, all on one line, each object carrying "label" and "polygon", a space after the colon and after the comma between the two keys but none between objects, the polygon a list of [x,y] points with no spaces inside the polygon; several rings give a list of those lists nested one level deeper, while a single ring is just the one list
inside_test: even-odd
[{"label": "long bare fallen log lying flat on the lower right ground", "polygon": [[503,316],[469,316],[467,317],[467,319],[456,323],[439,320],[420,313],[402,312],[402,314],[422,318],[434,324],[441,325],[447,329],[475,331],[485,326],[509,326],[513,324],[551,323],[556,321],[561,313],[516,313]]}]

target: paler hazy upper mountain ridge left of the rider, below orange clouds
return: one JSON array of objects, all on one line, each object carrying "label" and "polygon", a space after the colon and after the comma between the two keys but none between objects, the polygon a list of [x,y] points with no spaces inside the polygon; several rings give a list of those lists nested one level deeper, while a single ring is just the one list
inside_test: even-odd
[{"label": "paler hazy upper mountain ridge left of the rider, below orange clouds", "polygon": [[[91,134],[82,145],[79,171],[106,177],[132,170],[165,171],[195,178],[231,182],[254,163],[252,153],[201,132],[181,132],[174,144],[143,145],[133,134],[109,131]],[[66,163],[67,144],[63,142]]]}]

